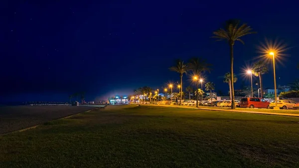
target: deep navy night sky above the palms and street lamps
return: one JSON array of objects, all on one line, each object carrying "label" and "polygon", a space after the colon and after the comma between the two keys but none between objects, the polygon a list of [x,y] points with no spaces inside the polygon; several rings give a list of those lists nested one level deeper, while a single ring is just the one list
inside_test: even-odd
[{"label": "deep navy night sky above the palms and street lamps", "polygon": [[[174,59],[191,57],[212,63],[206,81],[227,92],[221,76],[230,70],[229,46],[210,36],[230,18],[258,31],[235,45],[235,89],[242,78],[250,84],[243,69],[265,38],[292,47],[277,64],[277,84],[298,77],[298,6],[289,2],[1,0],[0,6],[0,101],[68,101],[81,91],[86,100],[100,100],[142,86],[162,88],[179,81],[168,70]],[[269,68],[264,88],[273,87]]]}]

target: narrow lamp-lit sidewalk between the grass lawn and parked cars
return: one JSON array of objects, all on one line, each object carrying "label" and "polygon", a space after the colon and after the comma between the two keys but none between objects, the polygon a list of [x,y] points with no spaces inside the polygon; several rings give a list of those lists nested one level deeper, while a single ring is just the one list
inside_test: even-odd
[{"label": "narrow lamp-lit sidewalk between the grass lawn and parked cars", "polygon": [[227,112],[239,112],[239,113],[255,113],[255,114],[267,114],[267,115],[281,115],[281,116],[292,116],[299,117],[299,114],[291,114],[291,113],[273,113],[273,112],[258,112],[258,111],[242,111],[242,110],[233,110],[233,109],[212,109],[212,108],[204,108],[204,107],[188,107],[188,106],[173,106],[173,105],[152,105],[152,106],[162,106],[162,107],[176,107],[176,108],[187,108],[187,109],[198,109],[198,110],[211,110],[211,111],[227,111]]}]

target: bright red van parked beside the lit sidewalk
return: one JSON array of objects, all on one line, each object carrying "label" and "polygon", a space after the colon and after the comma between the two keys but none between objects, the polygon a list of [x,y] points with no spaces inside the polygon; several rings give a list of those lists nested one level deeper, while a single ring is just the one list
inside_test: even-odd
[{"label": "bright red van parked beside the lit sidewalk", "polygon": [[245,108],[266,108],[269,109],[270,102],[265,99],[256,97],[246,97],[242,98],[240,101],[240,107]]}]

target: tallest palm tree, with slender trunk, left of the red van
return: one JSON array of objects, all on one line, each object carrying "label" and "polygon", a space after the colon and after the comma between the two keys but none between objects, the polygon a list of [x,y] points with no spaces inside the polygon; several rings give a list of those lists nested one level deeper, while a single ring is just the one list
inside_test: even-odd
[{"label": "tallest palm tree, with slender trunk, left of the red van", "polygon": [[246,23],[239,26],[240,21],[239,20],[227,20],[225,23],[224,28],[220,28],[217,31],[214,31],[213,34],[215,36],[212,36],[213,38],[218,38],[218,41],[220,40],[227,40],[229,47],[230,47],[230,63],[231,63],[231,88],[232,88],[232,109],[235,108],[235,95],[234,95],[234,44],[235,41],[240,41],[244,44],[244,41],[241,39],[242,36],[247,34],[253,34],[256,32],[251,31],[252,28],[248,26]]}]

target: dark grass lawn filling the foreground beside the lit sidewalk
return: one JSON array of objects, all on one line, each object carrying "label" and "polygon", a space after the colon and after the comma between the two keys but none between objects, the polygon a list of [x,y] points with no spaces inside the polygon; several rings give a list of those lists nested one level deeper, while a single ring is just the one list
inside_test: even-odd
[{"label": "dark grass lawn filling the foreground beside the lit sidewalk", "polygon": [[114,106],[0,137],[0,168],[299,167],[299,118]]}]

